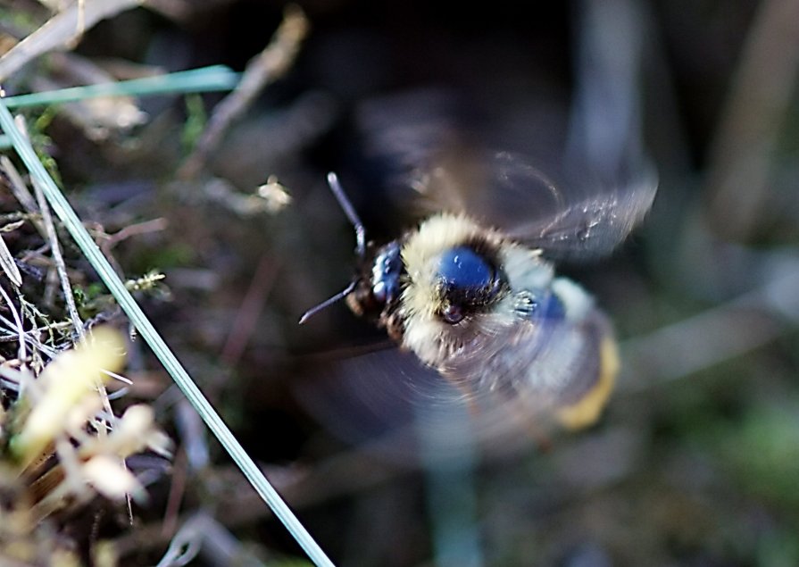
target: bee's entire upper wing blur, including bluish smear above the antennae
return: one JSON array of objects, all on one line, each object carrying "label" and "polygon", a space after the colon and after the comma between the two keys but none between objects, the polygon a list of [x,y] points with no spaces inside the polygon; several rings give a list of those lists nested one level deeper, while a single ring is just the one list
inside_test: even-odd
[{"label": "bee's entire upper wing blur, including bluish smear above the antennae", "polygon": [[361,113],[365,153],[404,209],[467,213],[553,259],[581,261],[612,252],[652,206],[657,176],[643,160],[591,166],[555,143],[536,155],[487,149],[455,106],[434,91]]}]

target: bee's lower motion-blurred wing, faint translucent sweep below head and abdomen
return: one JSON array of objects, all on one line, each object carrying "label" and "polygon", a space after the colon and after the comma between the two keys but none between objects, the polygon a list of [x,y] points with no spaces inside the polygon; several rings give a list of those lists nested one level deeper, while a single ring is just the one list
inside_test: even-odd
[{"label": "bee's lower motion-blurred wing, faint translucent sweep below head and abdomen", "polygon": [[[407,466],[537,446],[529,406],[462,388],[399,349],[363,354],[297,379],[295,396],[337,438]],[[541,424],[543,422],[539,422]]]}]

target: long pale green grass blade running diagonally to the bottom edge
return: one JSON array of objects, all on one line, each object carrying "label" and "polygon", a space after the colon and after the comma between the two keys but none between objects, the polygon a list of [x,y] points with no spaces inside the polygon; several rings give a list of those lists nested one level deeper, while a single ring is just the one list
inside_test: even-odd
[{"label": "long pale green grass blade running diagonally to the bottom edge", "polygon": [[0,127],[4,130],[5,135],[11,138],[17,154],[20,155],[22,162],[25,163],[30,175],[41,184],[54,212],[61,219],[64,227],[69,230],[71,237],[78,244],[87,260],[95,268],[97,275],[103,279],[105,286],[116,298],[117,303],[120,304],[130,321],[136,326],[139,335],[153,349],[154,354],[161,361],[166,371],[170,373],[172,379],[175,380],[175,383],[183,391],[188,401],[196,408],[197,413],[200,414],[208,428],[219,439],[221,445],[228,451],[259,496],[262,497],[266,504],[269,504],[272,512],[283,522],[313,563],[325,566],[333,565],[316,541],[313,540],[311,534],[297,520],[287,504],[283,502],[278,492],[272,488],[269,480],[263,476],[254,461],[246,454],[244,448],[238,443],[220,416],[213,410],[212,405],[200,389],[196,387],[187,371],[179,363],[175,355],[172,354],[169,346],[166,345],[153,324],[147,319],[136,300],[129,294],[125,284],[117,277],[111,264],[100,252],[100,248],[97,247],[95,241],[84,229],[78,215],[72,210],[66,197],[62,195],[62,192],[56,187],[42,163],[39,162],[28,139],[17,129],[12,114],[5,107],[2,100],[0,100]]}]

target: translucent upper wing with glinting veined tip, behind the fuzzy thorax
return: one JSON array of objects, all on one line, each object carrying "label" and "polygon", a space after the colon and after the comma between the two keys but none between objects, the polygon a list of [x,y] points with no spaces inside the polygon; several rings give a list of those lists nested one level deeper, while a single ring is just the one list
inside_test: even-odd
[{"label": "translucent upper wing with glinting veined tip, behind the fuzzy thorax", "polygon": [[431,157],[409,179],[430,210],[468,213],[552,258],[587,260],[627,238],[657,191],[651,167],[614,178],[578,165],[544,171],[508,152],[459,150]]}]

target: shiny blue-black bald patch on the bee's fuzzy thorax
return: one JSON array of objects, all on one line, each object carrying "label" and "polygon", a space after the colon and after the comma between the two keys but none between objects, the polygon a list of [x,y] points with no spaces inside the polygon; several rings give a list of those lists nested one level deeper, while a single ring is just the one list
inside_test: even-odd
[{"label": "shiny blue-black bald patch on the bee's fuzzy thorax", "polygon": [[450,324],[489,304],[502,287],[494,263],[469,246],[455,246],[441,254],[437,276],[444,300],[441,317]]}]

